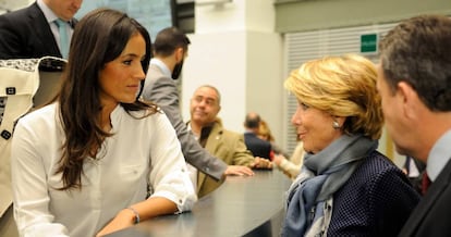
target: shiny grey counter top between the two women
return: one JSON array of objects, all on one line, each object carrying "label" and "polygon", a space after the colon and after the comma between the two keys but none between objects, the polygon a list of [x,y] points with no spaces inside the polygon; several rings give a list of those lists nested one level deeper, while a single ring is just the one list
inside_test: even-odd
[{"label": "shiny grey counter top between the two women", "polygon": [[108,237],[125,236],[273,236],[283,216],[291,180],[280,171],[255,171],[255,176],[229,176],[203,197],[192,212],[142,222]]}]

